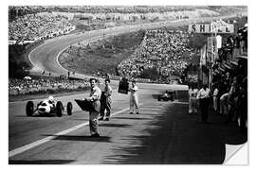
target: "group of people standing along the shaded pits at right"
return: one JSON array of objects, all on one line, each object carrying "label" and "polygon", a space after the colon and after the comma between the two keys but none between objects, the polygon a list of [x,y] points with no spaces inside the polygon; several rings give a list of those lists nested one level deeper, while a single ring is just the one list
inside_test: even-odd
[{"label": "group of people standing along the shaded pits at right", "polygon": [[200,90],[198,90],[196,86],[190,86],[189,114],[196,114],[198,108],[200,108],[202,123],[208,123],[209,111],[210,107],[212,107],[212,110],[215,113],[226,117],[225,123],[234,121],[237,122],[241,129],[245,128],[247,126],[247,109],[244,106],[246,105],[244,104],[246,102],[244,100],[247,100],[247,98],[244,96],[245,94],[242,95],[245,90],[243,91],[243,89],[241,90],[241,88],[237,88],[236,84],[235,77],[230,90],[227,91],[227,93],[221,94],[219,94],[220,90],[216,85],[212,86],[212,92],[207,85],[203,85]]}]

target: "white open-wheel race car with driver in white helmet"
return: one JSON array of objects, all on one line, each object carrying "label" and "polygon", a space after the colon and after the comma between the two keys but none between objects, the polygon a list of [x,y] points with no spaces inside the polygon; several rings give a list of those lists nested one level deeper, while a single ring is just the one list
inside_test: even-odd
[{"label": "white open-wheel race car with driver in white helmet", "polygon": [[[68,102],[66,105],[66,112],[68,115],[72,114],[72,109],[72,103]],[[57,101],[57,103],[55,104],[55,102],[51,102],[46,99],[39,102],[35,107],[32,101],[27,101],[27,116],[32,116],[36,111],[39,114],[56,114],[58,117],[62,117],[64,114],[64,105],[61,101]]]}]

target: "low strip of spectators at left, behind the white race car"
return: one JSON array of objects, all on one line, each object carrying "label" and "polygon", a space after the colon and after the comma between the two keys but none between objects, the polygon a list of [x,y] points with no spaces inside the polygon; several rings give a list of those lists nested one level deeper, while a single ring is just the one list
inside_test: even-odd
[{"label": "low strip of spectators at left, behind the white race car", "polygon": [[88,80],[70,80],[48,77],[29,79],[9,78],[9,95],[76,91],[86,90],[89,87]]}]

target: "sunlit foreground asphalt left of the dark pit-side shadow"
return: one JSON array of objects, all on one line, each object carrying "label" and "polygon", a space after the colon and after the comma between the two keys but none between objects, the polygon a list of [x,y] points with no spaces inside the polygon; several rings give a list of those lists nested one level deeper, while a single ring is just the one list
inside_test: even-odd
[{"label": "sunlit foreground asphalt left of the dark pit-side shadow", "polygon": [[[142,142],[139,137],[151,137],[151,133],[146,130],[157,129],[154,125],[158,121],[157,117],[164,114],[168,105],[174,105],[170,102],[157,102],[157,93],[140,88],[140,114],[137,115],[129,114],[129,95],[115,90],[112,117],[109,122],[100,121],[101,137],[95,139],[90,137],[88,113],[79,110],[74,102],[74,98],[82,98],[86,95],[84,93],[57,98],[64,104],[72,101],[74,110],[71,116],[36,114],[27,117],[25,102],[9,103],[9,163],[143,163],[119,160],[126,158],[125,155],[131,157],[125,153],[125,149],[120,148],[136,149],[140,146]],[[187,103],[180,101],[180,104]],[[14,111],[17,109],[20,111]],[[165,138],[166,135],[163,141]],[[163,157],[165,155],[162,147],[157,152],[153,147],[149,149],[153,157],[145,160],[146,163],[151,163],[152,158],[159,154],[163,154]],[[152,163],[162,161],[155,160]]]}]

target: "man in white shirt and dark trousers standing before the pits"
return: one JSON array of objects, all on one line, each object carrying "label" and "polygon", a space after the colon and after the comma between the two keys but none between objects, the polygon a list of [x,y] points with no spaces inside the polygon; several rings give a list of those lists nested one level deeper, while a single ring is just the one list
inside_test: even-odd
[{"label": "man in white shirt and dark trousers standing before the pits", "polygon": [[202,123],[208,122],[209,115],[209,105],[210,105],[210,89],[207,88],[207,85],[203,85],[202,89],[200,89],[197,94],[197,98],[199,99],[200,109],[202,113]]}]

